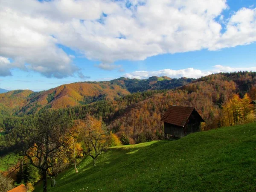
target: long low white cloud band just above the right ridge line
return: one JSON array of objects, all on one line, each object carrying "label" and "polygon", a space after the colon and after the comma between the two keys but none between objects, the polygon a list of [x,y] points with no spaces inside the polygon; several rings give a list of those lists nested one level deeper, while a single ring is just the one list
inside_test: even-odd
[{"label": "long low white cloud band just above the right ridge line", "polygon": [[235,71],[256,71],[256,67],[249,68],[234,68],[234,67],[226,67],[222,65],[215,65],[210,71],[202,71],[193,68],[181,69],[181,70],[171,70],[164,69],[158,71],[134,71],[132,73],[124,74],[124,77],[128,77],[130,79],[148,79],[151,76],[168,76],[170,78],[199,78],[201,76],[207,76],[212,73],[220,73],[220,72],[235,72]]}]

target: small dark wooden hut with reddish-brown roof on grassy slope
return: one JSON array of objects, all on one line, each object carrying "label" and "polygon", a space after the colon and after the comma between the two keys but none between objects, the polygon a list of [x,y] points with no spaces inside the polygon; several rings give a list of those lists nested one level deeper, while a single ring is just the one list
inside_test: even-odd
[{"label": "small dark wooden hut with reddish-brown roof on grassy slope", "polygon": [[195,108],[170,106],[161,121],[164,122],[165,136],[171,134],[181,138],[201,131],[201,122],[204,122],[204,119]]}]

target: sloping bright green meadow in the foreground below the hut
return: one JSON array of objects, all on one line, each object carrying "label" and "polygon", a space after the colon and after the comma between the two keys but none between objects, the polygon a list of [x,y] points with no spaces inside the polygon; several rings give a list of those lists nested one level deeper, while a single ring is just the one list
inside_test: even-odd
[{"label": "sloping bright green meadow in the foreground below the hut", "polygon": [[85,157],[78,170],[61,173],[49,191],[255,191],[256,123],[113,147],[96,167]]}]

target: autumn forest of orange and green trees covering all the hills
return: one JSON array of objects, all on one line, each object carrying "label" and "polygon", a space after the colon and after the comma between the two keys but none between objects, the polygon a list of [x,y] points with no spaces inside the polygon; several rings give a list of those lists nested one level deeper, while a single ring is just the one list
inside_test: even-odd
[{"label": "autumn forest of orange and green trees covering all the hills", "polygon": [[[119,78],[42,92],[2,93],[0,155],[22,157],[4,172],[15,172],[18,183],[33,185],[39,179],[46,182],[47,175],[58,175],[74,160],[76,166],[86,154],[96,165],[108,147],[163,140],[161,117],[169,105],[195,107],[205,120],[202,131],[253,122],[249,103],[255,99],[256,72],[216,73],[199,79]],[[49,140],[50,148],[39,140]]]}]

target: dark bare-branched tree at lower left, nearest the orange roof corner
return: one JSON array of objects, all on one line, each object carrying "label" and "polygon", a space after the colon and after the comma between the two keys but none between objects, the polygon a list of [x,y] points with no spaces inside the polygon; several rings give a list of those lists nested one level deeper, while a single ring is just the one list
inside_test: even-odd
[{"label": "dark bare-branched tree at lower left, nearest the orange roof corner", "polygon": [[56,174],[69,164],[65,159],[70,151],[71,126],[69,117],[61,117],[56,111],[43,111],[36,127],[29,130],[33,131],[32,136],[19,139],[16,153],[41,170],[44,192],[47,192],[47,172]]}]

